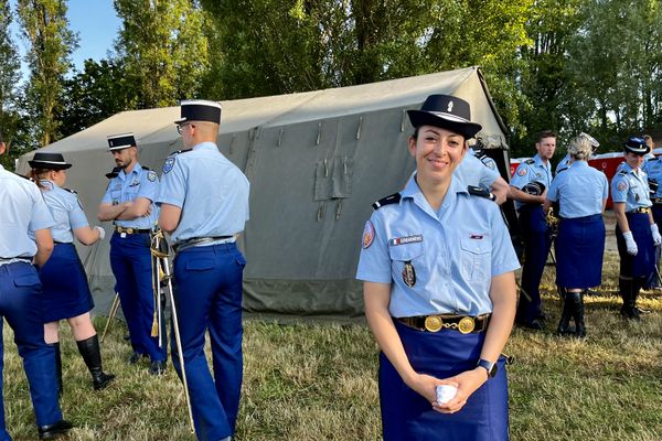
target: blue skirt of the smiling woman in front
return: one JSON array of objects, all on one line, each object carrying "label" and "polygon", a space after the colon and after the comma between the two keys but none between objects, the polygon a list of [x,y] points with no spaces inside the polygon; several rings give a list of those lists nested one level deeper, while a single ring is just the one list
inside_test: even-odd
[{"label": "blue skirt of the smiling woman in front", "polygon": [[[461,334],[417,331],[394,321],[409,363],[419,374],[448,378],[476,367],[484,332]],[[439,413],[404,384],[384,354],[380,355],[380,404],[385,441],[501,441],[509,439],[505,359],[499,370],[452,415]]]}]

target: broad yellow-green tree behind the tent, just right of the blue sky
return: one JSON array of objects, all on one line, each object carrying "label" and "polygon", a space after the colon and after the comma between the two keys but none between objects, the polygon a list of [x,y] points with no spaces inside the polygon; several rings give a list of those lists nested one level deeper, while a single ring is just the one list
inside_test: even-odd
[{"label": "broad yellow-green tree behind the tent, just right of the blue sky", "polygon": [[204,15],[191,0],[115,0],[122,20],[116,51],[135,82],[139,107],[195,97],[207,68]]}]

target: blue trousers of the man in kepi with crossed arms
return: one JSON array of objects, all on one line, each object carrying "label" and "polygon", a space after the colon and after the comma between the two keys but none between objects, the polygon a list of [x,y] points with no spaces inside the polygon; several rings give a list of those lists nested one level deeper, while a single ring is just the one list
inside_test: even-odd
[{"label": "blue trousers of the man in kepi with crossed arms", "polygon": [[154,294],[149,234],[125,236],[115,233],[110,239],[110,267],[131,347],[138,354],[149,355],[152,362],[164,361],[166,344],[159,347],[158,337],[151,336]]}]

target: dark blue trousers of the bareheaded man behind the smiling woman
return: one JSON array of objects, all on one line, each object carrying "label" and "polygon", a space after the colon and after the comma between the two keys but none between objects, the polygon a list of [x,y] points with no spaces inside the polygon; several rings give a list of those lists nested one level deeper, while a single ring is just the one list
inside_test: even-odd
[{"label": "dark blue trousers of the bareheaded man behind the smiling woman", "polygon": [[520,295],[516,319],[522,323],[531,323],[542,313],[540,284],[552,240],[541,205],[521,207],[519,218],[524,237],[522,289],[528,298]]}]

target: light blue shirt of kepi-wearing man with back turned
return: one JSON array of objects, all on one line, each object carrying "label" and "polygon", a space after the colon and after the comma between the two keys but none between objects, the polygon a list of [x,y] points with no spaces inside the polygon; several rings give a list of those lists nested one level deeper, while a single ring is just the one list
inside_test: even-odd
[{"label": "light blue shirt of kepi-wearing man with back turned", "polygon": [[182,208],[172,241],[232,236],[248,220],[248,180],[213,142],[173,154],[163,163],[157,204]]}]

